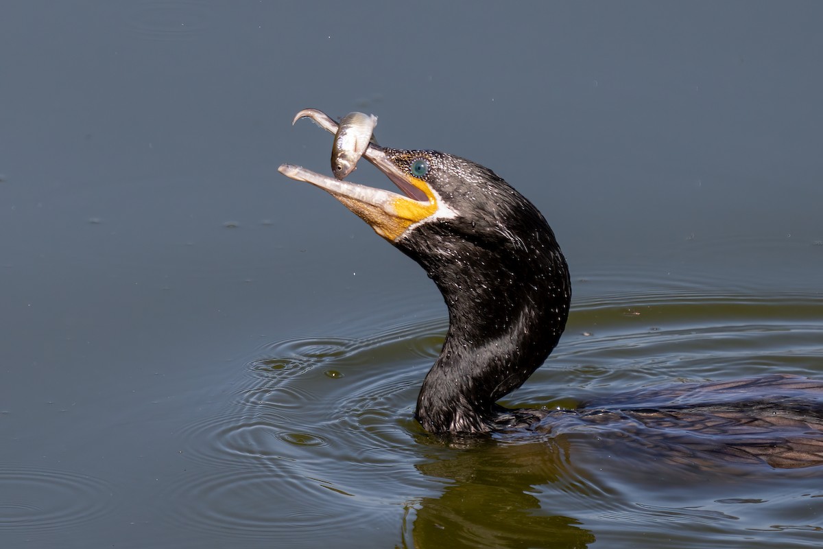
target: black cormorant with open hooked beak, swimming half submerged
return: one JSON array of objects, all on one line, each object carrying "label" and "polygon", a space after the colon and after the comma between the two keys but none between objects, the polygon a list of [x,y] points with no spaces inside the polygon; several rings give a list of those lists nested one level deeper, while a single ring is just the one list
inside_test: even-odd
[{"label": "black cormorant with open hooked beak, swimming half submerged", "polygon": [[[317,109],[295,120],[301,116],[337,132]],[[596,428],[691,463],[708,455],[778,468],[823,464],[823,383],[792,375],[682,384],[575,410],[501,407],[496,402],[549,356],[569,314],[569,269],[551,227],[532,202],[472,161],[374,142],[364,156],[403,194],[295,165],[280,171],[331,193],[420,263],[443,294],[449,331],[417,398],[425,430]]]}]

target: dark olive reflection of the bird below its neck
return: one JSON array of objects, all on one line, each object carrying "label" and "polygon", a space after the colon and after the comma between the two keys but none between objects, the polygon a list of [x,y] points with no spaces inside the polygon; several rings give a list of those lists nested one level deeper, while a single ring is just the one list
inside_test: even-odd
[{"label": "dark olive reflection of the bird below its neck", "polygon": [[587,547],[593,533],[579,519],[543,512],[534,495],[552,484],[565,498],[608,497],[573,467],[561,443],[481,444],[418,466],[448,479],[443,493],[423,498],[413,547]]}]

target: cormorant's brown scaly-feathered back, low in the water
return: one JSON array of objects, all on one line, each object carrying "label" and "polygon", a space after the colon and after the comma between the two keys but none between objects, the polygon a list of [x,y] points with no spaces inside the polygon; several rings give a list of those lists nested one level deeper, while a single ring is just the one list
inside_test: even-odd
[{"label": "cormorant's brown scaly-feathered back, low in the water", "polygon": [[641,389],[546,411],[528,429],[594,435],[671,463],[813,467],[823,465],[823,382],[767,375]]}]

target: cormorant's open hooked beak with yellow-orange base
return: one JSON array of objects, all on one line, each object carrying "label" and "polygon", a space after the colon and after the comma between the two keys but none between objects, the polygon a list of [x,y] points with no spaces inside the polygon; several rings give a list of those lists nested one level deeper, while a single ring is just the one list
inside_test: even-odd
[{"label": "cormorant's open hooked beak with yellow-orange base", "polygon": [[[312,119],[332,135],[337,133],[337,123],[318,109],[301,110],[295,116],[295,122],[303,117]],[[297,165],[283,164],[278,171],[291,179],[322,188],[360,216],[378,235],[394,242],[410,226],[434,215],[438,211],[439,197],[423,179],[398,167],[387,151],[390,150],[370,143],[363,156],[391,179],[403,194],[339,181]]]}]

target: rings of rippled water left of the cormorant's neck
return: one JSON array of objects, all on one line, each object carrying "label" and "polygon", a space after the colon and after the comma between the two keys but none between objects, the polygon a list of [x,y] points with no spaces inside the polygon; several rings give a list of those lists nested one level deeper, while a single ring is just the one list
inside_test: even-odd
[{"label": "rings of rippled water left of the cormorant's neck", "polygon": [[401,509],[382,494],[416,476],[412,403],[444,328],[433,319],[259,348],[221,409],[179,432],[198,474],[167,487],[169,519],[243,537],[271,532],[272,520],[295,536],[331,535],[340,521],[370,528],[381,513],[390,527]]}]

